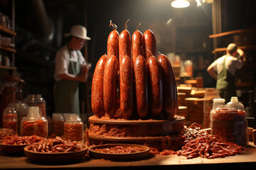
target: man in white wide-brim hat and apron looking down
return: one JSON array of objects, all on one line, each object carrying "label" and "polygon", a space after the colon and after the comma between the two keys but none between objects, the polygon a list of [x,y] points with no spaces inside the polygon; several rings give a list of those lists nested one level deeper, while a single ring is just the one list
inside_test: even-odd
[{"label": "man in white wide-brim hat and apron looking down", "polygon": [[90,64],[86,64],[80,50],[85,45],[87,30],[75,25],[66,33],[68,44],[61,47],[55,55],[55,113],[80,114],[79,82],[87,80]]}]

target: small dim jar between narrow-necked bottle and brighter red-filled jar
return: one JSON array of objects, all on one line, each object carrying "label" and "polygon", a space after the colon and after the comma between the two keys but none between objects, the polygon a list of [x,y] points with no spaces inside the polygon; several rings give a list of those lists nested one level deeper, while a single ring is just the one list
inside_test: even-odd
[{"label": "small dim jar between narrow-necked bottle and brighter red-filled jar", "polygon": [[51,134],[57,136],[63,135],[64,118],[62,113],[53,113],[50,124]]}]

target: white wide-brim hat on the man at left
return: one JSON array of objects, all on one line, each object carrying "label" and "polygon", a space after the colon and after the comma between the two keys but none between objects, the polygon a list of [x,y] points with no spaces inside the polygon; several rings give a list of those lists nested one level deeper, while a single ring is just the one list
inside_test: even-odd
[{"label": "white wide-brim hat on the man at left", "polygon": [[65,37],[68,37],[70,35],[77,37],[77,38],[90,40],[90,37],[87,37],[87,30],[84,26],[75,25],[71,28],[70,33],[64,34]]}]

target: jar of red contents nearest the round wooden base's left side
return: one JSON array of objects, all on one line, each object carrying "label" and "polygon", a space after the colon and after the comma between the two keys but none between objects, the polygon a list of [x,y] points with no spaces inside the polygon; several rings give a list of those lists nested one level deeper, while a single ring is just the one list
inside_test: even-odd
[{"label": "jar of red contents nearest the round wooden base's left side", "polygon": [[70,114],[64,123],[66,140],[83,140],[83,123],[79,115]]}]

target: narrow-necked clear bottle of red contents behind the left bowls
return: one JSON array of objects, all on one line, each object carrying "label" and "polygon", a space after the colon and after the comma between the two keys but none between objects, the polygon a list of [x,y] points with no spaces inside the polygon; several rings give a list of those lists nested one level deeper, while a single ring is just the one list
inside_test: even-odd
[{"label": "narrow-necked clear bottle of red contents behind the left bowls", "polygon": [[48,137],[48,120],[41,116],[38,107],[29,107],[28,115],[21,120],[21,136]]}]

